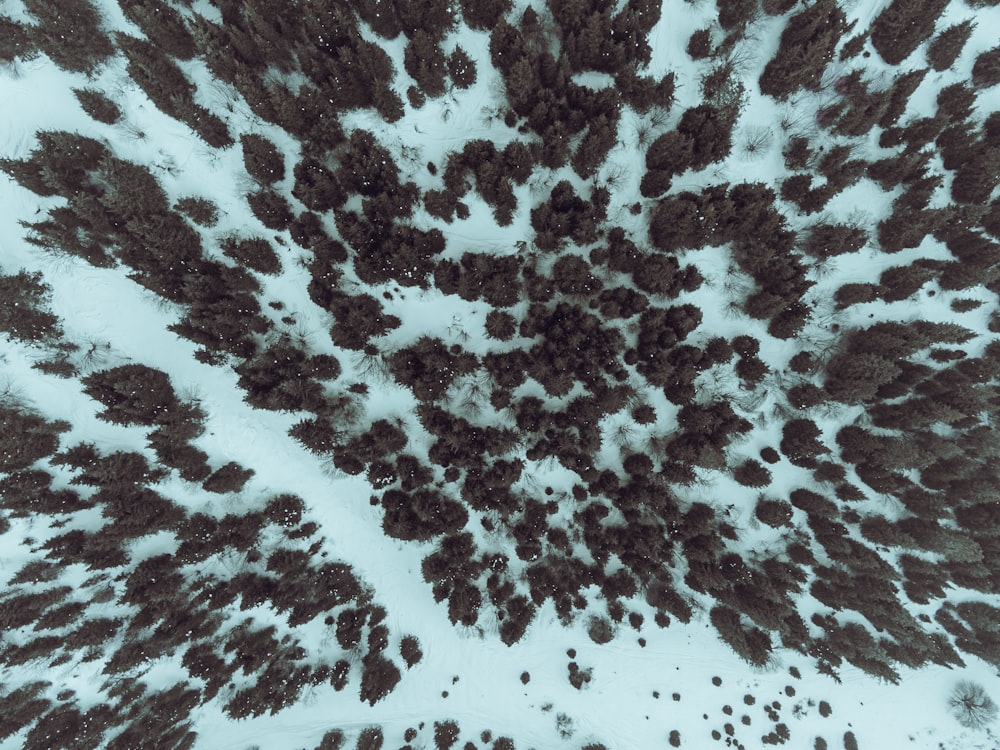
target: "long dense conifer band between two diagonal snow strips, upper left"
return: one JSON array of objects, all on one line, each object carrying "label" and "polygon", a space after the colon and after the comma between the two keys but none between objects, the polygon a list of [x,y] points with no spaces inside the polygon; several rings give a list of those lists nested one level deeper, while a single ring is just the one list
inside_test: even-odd
[{"label": "long dense conifer band between two diagonal snow strips, upper left", "polygon": [[148,169],[75,133],[43,132],[38,139],[28,159],[0,167],[25,188],[62,195],[68,205],[28,224],[29,241],[99,267],[124,263],[134,281],[188,306],[172,330],[201,344],[207,357],[253,352],[254,335],[271,325],[254,296],[258,282],[240,268],[204,257],[200,235],[171,209]]}]

